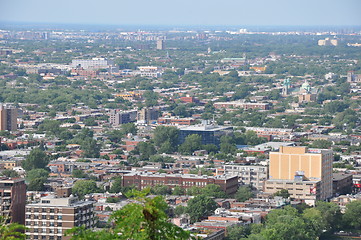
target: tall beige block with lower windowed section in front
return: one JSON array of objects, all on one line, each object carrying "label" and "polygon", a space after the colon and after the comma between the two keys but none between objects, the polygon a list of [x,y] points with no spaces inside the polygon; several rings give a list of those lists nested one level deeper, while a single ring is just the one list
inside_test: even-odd
[{"label": "tall beige block with lower windowed section in front", "polygon": [[[270,153],[266,192],[287,189],[294,198],[332,197],[333,154],[327,149],[282,146]],[[267,189],[268,188],[268,189]]]}]

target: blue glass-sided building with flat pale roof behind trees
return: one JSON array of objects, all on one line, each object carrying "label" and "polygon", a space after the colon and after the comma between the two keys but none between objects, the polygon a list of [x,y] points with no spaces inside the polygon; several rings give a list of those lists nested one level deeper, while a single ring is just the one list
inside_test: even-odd
[{"label": "blue glass-sided building with flat pale roof behind trees", "polygon": [[224,135],[230,135],[233,132],[232,127],[216,126],[216,125],[192,125],[184,128],[180,128],[179,131],[179,143],[182,144],[186,137],[192,134],[197,134],[202,137],[202,144],[214,144],[219,146],[221,137]]}]

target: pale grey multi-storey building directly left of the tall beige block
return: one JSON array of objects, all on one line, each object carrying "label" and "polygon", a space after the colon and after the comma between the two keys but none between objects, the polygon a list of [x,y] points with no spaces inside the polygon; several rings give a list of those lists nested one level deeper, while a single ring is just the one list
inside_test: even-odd
[{"label": "pale grey multi-storey building directly left of the tall beige block", "polygon": [[264,182],[268,179],[267,166],[255,165],[223,165],[217,169],[217,175],[237,176],[242,184],[263,190]]}]

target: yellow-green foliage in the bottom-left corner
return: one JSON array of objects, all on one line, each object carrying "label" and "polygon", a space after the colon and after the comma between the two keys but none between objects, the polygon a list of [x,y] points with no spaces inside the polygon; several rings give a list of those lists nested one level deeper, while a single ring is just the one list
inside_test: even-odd
[{"label": "yellow-green foliage in the bottom-left corner", "polygon": [[7,223],[7,219],[0,216],[0,240],[25,240],[25,226],[18,223]]}]

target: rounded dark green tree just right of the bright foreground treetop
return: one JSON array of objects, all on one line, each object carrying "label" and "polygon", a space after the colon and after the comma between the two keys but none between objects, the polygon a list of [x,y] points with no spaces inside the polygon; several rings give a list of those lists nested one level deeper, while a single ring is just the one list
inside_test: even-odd
[{"label": "rounded dark green tree just right of the bright foreground treetop", "polygon": [[191,223],[195,223],[213,214],[217,207],[218,205],[213,199],[205,195],[199,195],[188,201],[187,213]]}]

